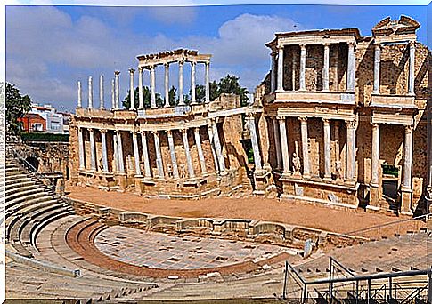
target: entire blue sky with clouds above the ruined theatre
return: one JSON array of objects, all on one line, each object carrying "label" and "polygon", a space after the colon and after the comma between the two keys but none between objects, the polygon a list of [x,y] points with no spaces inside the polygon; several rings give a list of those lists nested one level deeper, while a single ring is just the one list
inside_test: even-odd
[{"label": "entire blue sky with clouds above the ruined theatre", "polygon": [[[379,20],[405,14],[420,21],[418,40],[430,47],[430,6],[7,6],[6,80],[37,102],[73,110],[77,80],[83,82],[86,96],[86,79],[94,76],[94,96],[98,96],[97,79],[103,74],[105,100],[110,103],[109,82],[115,69],[122,72],[123,98],[128,88],[126,71],[136,67],[136,55],[184,47],[213,54],[212,80],[235,74],[253,91],[270,67],[264,44],[275,32],[359,28],[363,36],[370,36]],[[197,70],[199,84],[203,71],[204,67]],[[185,79],[188,72],[186,66]],[[176,84],[175,67],[171,73],[170,81]],[[144,84],[149,83],[148,78],[144,75]],[[160,68],[159,92],[162,86]],[[185,86],[188,88],[187,82]]]}]

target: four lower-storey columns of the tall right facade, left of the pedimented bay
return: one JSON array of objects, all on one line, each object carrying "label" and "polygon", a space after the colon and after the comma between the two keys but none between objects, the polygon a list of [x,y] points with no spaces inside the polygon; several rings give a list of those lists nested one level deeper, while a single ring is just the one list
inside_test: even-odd
[{"label": "four lower-storey columns of the tall right facade, left of the pedimented bay", "polygon": [[[303,157],[303,177],[308,179],[311,177],[310,161],[309,161],[309,148],[308,148],[308,135],[307,135],[307,117],[298,117],[300,121],[300,133],[302,143],[302,157]],[[335,123],[335,139],[336,139],[336,162],[337,170],[340,164],[339,157],[339,122]],[[330,119],[322,118],[323,124],[323,141],[324,141],[324,179],[325,181],[331,180],[331,142],[330,142]],[[279,127],[278,127],[279,126]],[[355,180],[355,121],[346,122],[346,180]],[[283,168],[283,174],[289,175],[291,170],[289,168],[289,145],[287,138],[286,117],[273,118],[273,134],[276,148],[276,161],[277,167]],[[279,143],[281,143],[279,145]]]}]

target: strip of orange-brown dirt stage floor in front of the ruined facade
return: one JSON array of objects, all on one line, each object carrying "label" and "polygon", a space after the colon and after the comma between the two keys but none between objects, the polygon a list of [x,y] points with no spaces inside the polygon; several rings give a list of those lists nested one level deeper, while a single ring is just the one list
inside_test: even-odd
[{"label": "strip of orange-brown dirt stage floor in front of the ruined facade", "polygon": [[328,206],[270,198],[149,199],[134,193],[106,192],[96,188],[76,186],[68,186],[67,192],[70,198],[127,211],[190,218],[271,220],[339,233],[400,219],[363,210],[340,210]]}]

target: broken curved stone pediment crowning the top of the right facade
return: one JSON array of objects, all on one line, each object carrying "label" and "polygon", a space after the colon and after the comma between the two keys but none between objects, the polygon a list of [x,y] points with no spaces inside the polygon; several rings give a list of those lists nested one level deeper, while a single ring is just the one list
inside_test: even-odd
[{"label": "broken curved stone pediment crowning the top of the right facade", "polygon": [[372,35],[380,42],[412,40],[416,38],[415,32],[418,28],[420,23],[410,17],[401,16],[399,20],[387,17],[372,28]]}]

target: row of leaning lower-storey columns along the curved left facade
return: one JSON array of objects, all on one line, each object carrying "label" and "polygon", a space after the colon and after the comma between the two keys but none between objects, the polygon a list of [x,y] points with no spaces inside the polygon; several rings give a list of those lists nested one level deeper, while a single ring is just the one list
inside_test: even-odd
[{"label": "row of leaning lower-storey columns along the curved left facade", "polygon": [[[201,146],[201,140],[200,140],[200,127],[192,128],[194,133],[194,140],[195,145],[198,150],[198,156],[200,160],[200,170],[202,176],[205,176],[208,174],[207,168],[206,168],[206,160],[204,157],[204,153]],[[90,139],[90,164],[91,168],[90,170],[93,172],[97,171],[96,167],[96,149],[94,144],[94,129],[88,129],[89,131],[89,139]],[[101,131],[101,142],[102,142],[102,172],[108,173],[109,167],[108,167],[108,152],[107,152],[107,141],[106,141],[106,132],[107,130],[100,130]],[[192,156],[191,151],[189,147],[189,140],[188,140],[188,129],[179,130],[182,132],[182,138],[183,138],[183,148],[184,153],[186,156],[186,164],[187,164],[187,171],[190,179],[195,178],[195,172],[193,169],[193,163],[192,163]],[[141,141],[142,141],[142,153],[140,155],[139,151],[139,145],[138,145],[138,132],[131,132],[132,134],[132,141],[133,141],[133,148],[134,148],[134,161],[135,161],[135,177],[136,178],[144,178],[144,179],[151,179],[151,166],[150,166],[150,158],[149,158],[149,150],[147,145],[147,136],[151,132],[154,138],[154,146],[156,151],[156,165],[158,169],[158,178],[159,179],[165,179],[167,176],[167,173],[164,170],[163,165],[163,157],[160,149],[160,140],[159,140],[159,132],[158,131],[143,131],[141,133]],[[174,144],[174,137],[173,132],[175,130],[167,130],[167,140],[168,140],[168,147],[170,151],[171,156],[171,165],[172,165],[172,174],[173,178],[180,179],[180,173],[178,170],[178,164],[176,160],[175,155],[175,144]],[[122,132],[116,131],[113,136],[113,144],[114,144],[114,159],[115,159],[115,171],[119,174],[126,174],[125,172],[125,165],[123,160],[123,144],[122,144]],[[210,140],[212,155],[214,157],[214,164],[216,172],[218,172],[221,175],[224,175],[226,172],[225,164],[224,164],[224,156],[222,154],[222,148],[221,143],[219,140],[219,134],[217,131],[217,124],[216,121],[213,121],[210,126],[208,126],[208,137]],[[85,163],[85,146],[84,146],[84,139],[83,139],[83,128],[78,128],[78,152],[79,152],[79,169],[85,170],[86,169],[86,163]],[[143,160],[143,167],[144,172],[141,171],[141,159]],[[114,168],[113,168],[114,169]]]}]

